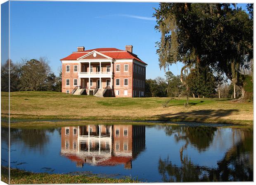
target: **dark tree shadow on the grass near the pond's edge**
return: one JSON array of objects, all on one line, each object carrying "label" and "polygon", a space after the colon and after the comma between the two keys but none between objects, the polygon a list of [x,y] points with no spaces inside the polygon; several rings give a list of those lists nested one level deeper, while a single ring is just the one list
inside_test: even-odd
[{"label": "dark tree shadow on the grass near the pond's edge", "polygon": [[[178,112],[178,113],[167,113],[159,114],[154,117],[158,117],[158,120],[180,120],[180,121],[196,121],[196,122],[206,122],[207,120],[219,120],[223,117],[230,116],[232,113],[238,113],[238,109],[218,109],[218,110],[194,110],[188,112]],[[230,117],[232,119],[232,117]]]}]

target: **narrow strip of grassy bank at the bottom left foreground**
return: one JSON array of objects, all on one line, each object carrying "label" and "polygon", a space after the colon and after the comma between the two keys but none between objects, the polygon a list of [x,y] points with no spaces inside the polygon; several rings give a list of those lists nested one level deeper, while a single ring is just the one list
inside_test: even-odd
[{"label": "narrow strip of grassy bank at the bottom left foreground", "polygon": [[[10,184],[69,184],[69,183],[139,183],[129,177],[123,179],[100,178],[96,175],[67,175],[32,173],[11,169]],[[8,183],[8,169],[1,166],[1,180]]]}]

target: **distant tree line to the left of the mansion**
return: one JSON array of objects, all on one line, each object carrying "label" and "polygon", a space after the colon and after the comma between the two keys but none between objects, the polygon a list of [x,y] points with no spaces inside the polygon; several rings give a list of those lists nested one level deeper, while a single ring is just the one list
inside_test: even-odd
[{"label": "distant tree line to the left of the mansion", "polygon": [[9,83],[11,92],[33,90],[61,92],[62,72],[59,76],[55,76],[45,57],[40,57],[38,60],[22,60],[21,63],[7,60],[1,66],[1,91],[8,92]]}]

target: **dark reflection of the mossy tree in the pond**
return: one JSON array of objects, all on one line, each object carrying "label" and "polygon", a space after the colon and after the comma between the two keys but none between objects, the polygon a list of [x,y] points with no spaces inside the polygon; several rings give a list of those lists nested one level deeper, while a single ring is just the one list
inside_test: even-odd
[{"label": "dark reflection of the mossy tree in the pond", "polygon": [[[233,129],[232,132],[240,132],[240,141],[225,153],[218,161],[216,168],[194,164],[183,150],[189,143],[200,151],[206,150],[213,140],[213,127],[183,127],[175,130],[175,127],[166,127],[166,134],[174,134],[176,141],[185,140],[186,143],[180,149],[181,166],[171,162],[169,157],[159,159],[159,173],[164,182],[200,182],[200,181],[252,181],[253,180],[253,132],[251,129]],[[198,133],[192,133],[198,132]],[[203,133],[204,132],[204,133]]]}]

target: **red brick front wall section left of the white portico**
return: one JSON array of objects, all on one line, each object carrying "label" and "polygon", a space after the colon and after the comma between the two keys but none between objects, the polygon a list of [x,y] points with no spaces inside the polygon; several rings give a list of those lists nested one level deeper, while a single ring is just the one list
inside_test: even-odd
[{"label": "red brick front wall section left of the white portico", "polygon": [[[66,65],[70,65],[70,72],[66,72]],[[71,93],[73,88],[75,88],[73,79],[78,80],[78,72],[74,72],[74,65],[78,65],[78,63],[62,64],[62,93],[66,93],[66,90],[69,90],[69,93]],[[69,79],[69,86],[66,86],[66,79]]]}]

